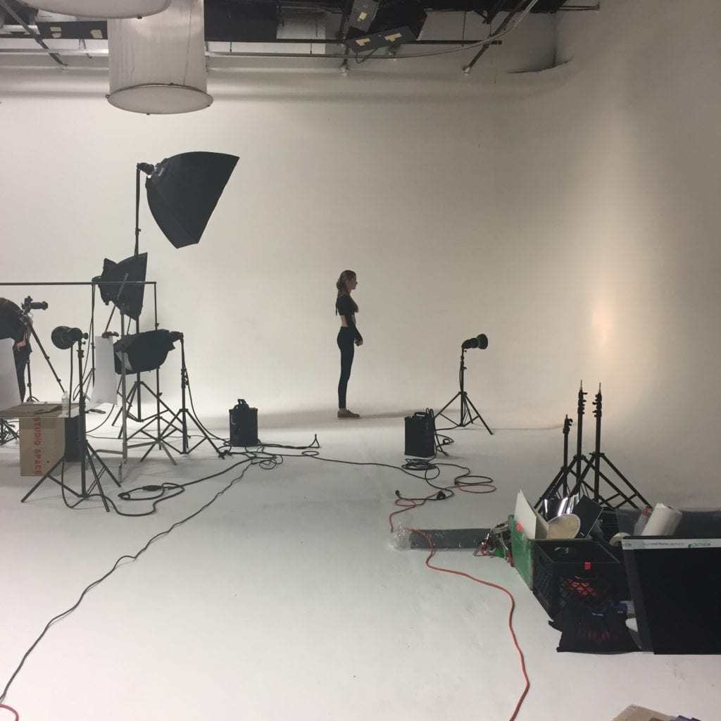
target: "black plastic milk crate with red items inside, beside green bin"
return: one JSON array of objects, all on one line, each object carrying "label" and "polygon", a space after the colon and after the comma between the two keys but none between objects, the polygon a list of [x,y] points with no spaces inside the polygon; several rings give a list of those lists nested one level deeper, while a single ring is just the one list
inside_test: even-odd
[{"label": "black plastic milk crate with red items inside, beside green bin", "polygon": [[551,618],[571,601],[622,600],[625,577],[619,559],[596,541],[536,541],[534,596]]}]

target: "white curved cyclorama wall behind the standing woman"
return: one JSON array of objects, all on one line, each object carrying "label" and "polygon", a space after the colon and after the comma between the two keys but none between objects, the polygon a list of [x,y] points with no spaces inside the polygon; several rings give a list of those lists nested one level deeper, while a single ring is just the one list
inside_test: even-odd
[{"label": "white curved cyclorama wall behind the standing woman", "polygon": [[[469,76],[472,53],[351,62],[348,77],[266,63],[211,71],[213,106],[175,117],[110,107],[102,72],[2,68],[0,280],[89,280],[132,254],[136,162],[236,154],[197,246],[174,249],[141,198],[160,324],[185,333],[201,417],[238,397],[261,417],[332,415],[335,280],[350,268],[365,338],[353,410],[438,409],[461,341],[485,332],[466,386],[490,425],[560,427],[583,379],[588,452],[601,382],[609,455],[714,497],[720,21],[713,0],[606,0],[557,16],[567,62],[550,71],[506,73],[526,69],[503,56],[510,37]],[[87,325],[86,291],[0,294],[28,292],[51,303],[36,314],[46,347],[56,324]],[[57,397],[33,358],[35,394]]]}]

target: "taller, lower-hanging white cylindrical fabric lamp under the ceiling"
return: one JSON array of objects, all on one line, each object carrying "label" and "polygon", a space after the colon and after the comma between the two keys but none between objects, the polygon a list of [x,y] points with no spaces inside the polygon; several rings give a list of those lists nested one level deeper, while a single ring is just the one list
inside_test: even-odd
[{"label": "taller, lower-hanging white cylindrical fabric lamp under the ceiling", "polygon": [[172,0],[151,17],[108,20],[110,105],[167,115],[203,110],[205,92],[203,0]]}]

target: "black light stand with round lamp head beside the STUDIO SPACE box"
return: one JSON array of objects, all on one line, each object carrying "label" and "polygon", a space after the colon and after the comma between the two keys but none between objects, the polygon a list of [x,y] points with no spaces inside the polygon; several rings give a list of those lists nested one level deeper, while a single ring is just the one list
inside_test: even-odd
[{"label": "black light stand with round lamp head beside the STUDIO SPACE box", "polygon": [[[78,353],[78,368],[83,367],[83,340],[87,339],[87,333],[83,333],[79,328],[68,328],[65,326],[60,326],[53,330],[53,343],[58,348],[61,348],[62,350],[66,350],[68,348],[72,349],[73,345],[77,343],[77,353]],[[80,385],[83,385],[83,377],[82,374],[80,375]],[[107,473],[110,478],[112,478],[113,481],[115,481],[115,485],[120,487],[120,484],[118,483],[118,479],[115,478],[115,476],[110,472],[110,469],[105,465],[105,462],[98,456],[97,451],[88,443],[87,440],[87,430],[85,425],[85,394],[84,389],[81,387],[80,392],[78,394],[78,400],[79,400],[79,416],[78,416],[78,445],[79,445],[79,456],[80,456],[80,492],[76,492],[68,485],[66,485],[65,482],[65,456],[61,457],[52,468],[30,489],[27,494],[22,497],[22,503],[25,503],[25,501],[30,498],[30,496],[41,486],[46,480],[53,481],[54,483],[58,484],[63,490],[68,490],[71,492],[74,496],[85,499],[89,498],[92,494],[92,491],[97,486],[97,489],[99,491],[99,496],[102,499],[102,505],[105,506],[106,511],[110,511],[110,507],[107,505],[107,499],[105,497],[105,492],[102,490],[102,486],[100,485],[100,477],[103,473]],[[97,461],[99,466],[102,467],[102,470],[98,472],[94,461]],[[92,483],[88,486],[87,485],[87,477],[86,477],[86,467],[89,466],[90,472],[93,477]],[[53,473],[58,468],[58,466],[62,466],[61,468],[61,478],[58,479],[53,476]]]}]

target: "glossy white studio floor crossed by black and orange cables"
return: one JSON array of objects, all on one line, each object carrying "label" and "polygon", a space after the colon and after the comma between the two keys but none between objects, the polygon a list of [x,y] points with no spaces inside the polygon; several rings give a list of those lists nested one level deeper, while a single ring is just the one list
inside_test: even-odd
[{"label": "glossy white studio floor crossed by black and orange cables", "polygon": [[[325,459],[397,466],[403,415],[276,417],[260,436],[299,446],[318,433]],[[558,428],[450,435],[448,461],[492,476],[497,492],[430,503],[404,514],[407,525],[493,526],[513,510],[519,487],[535,500],[559,467]],[[653,496],[630,451],[624,470]],[[217,459],[207,443],[177,466],[158,451],[143,464],[139,456],[131,454],[123,490],[187,482],[238,460]],[[95,502],[68,510],[50,483],[21,504],[32,479],[19,476],[16,443],[0,448],[0,687],[89,583],[208,503],[242,468],[188,487],[153,516],[124,518]],[[71,482],[77,473],[74,466]],[[442,479],[452,477],[445,469]],[[117,496],[107,479],[105,490]],[[286,458],[274,469],[250,467],[54,624],[5,703],[22,721],[507,720],[523,689],[508,598],[429,570],[425,552],[394,547],[395,490],[429,492],[422,480],[373,465]],[[116,503],[127,513],[149,508]],[[531,681],[519,721],[610,721],[632,703],[718,718],[717,656],[560,654],[559,634],[505,562],[466,551],[440,552],[435,562],[516,598],[513,623]],[[11,718],[0,709],[1,721]]]}]

